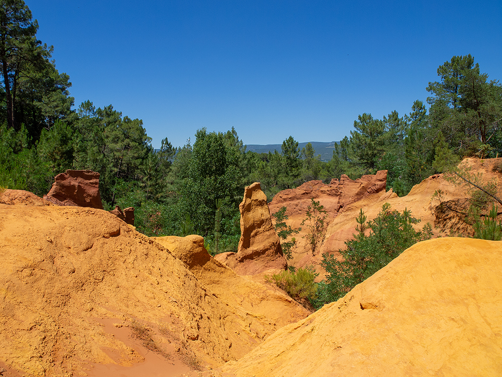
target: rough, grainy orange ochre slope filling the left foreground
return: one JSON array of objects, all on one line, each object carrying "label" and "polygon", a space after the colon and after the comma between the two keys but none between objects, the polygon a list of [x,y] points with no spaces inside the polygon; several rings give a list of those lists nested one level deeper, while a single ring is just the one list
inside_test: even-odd
[{"label": "rough, grainy orange ochre slope filling the left foreground", "polygon": [[[189,249],[176,250],[192,241],[170,247],[189,264]],[[200,245],[195,239],[196,255]],[[0,368],[13,376],[179,375],[237,359],[308,314],[205,257],[191,267],[214,270],[201,281],[106,211],[0,204]],[[231,299],[227,281],[239,292]]]}]

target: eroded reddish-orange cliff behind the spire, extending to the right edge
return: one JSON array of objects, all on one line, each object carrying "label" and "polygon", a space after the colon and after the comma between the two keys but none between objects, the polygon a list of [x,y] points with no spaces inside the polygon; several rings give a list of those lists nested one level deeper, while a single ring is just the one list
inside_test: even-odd
[{"label": "eroded reddish-orange cliff behind the spire, extending to the right edge", "polygon": [[[470,174],[482,175],[482,181],[488,182],[494,179],[497,185],[498,196],[502,197],[502,174],[498,171],[497,166],[502,165],[502,158],[479,160],[476,158],[466,158],[460,163],[460,167],[470,169]],[[497,170],[498,169],[498,170]],[[382,178],[377,179],[376,176],[381,175]],[[285,190],[274,197],[274,200],[269,204],[271,213],[277,212],[281,207],[286,206],[289,219],[286,223],[293,228],[298,228],[302,220],[305,218],[305,209],[310,203],[310,199],[314,198],[319,201],[328,211],[328,227],[322,246],[316,255],[312,256],[308,252],[305,239],[302,237],[306,233],[306,229],[296,235],[297,248],[293,250],[293,260],[290,262],[296,267],[304,267],[305,265],[313,264],[320,273],[319,278],[322,278],[324,271],[318,268],[318,263],[322,259],[322,254],[325,252],[339,255],[338,250],[344,249],[345,241],[353,238],[356,233],[355,221],[362,209],[367,217],[367,221],[374,219],[382,210],[385,203],[389,203],[393,210],[403,212],[403,210],[411,210],[412,216],[421,220],[415,227],[422,229],[426,223],[430,223],[434,235],[448,236],[450,229],[453,233],[466,232],[468,233],[469,226],[465,223],[465,213],[469,207],[468,187],[462,184],[454,184],[445,179],[443,174],[435,174],[421,183],[413,186],[407,196],[398,197],[392,192],[392,189],[385,192],[383,188],[383,173],[379,172],[376,176],[365,176],[366,182],[381,182],[374,185],[369,185],[366,194],[362,194],[362,189],[352,190],[352,193],[359,193],[354,196],[355,199],[350,199],[349,191],[345,191],[348,187],[354,187],[357,180],[347,182],[340,179],[338,191],[333,189],[330,191],[330,185],[323,185],[320,181],[304,183],[302,190],[298,187],[295,190]],[[362,178],[361,178],[362,179]],[[340,184],[344,180],[343,186]],[[332,181],[333,182],[333,181]],[[348,184],[349,183],[349,184]],[[309,188],[311,187],[311,188]],[[341,187],[345,187],[343,191]],[[380,191],[377,190],[380,187]],[[442,192],[442,200],[434,198],[436,191]],[[328,195],[331,193],[331,195]],[[335,195],[336,193],[336,195]],[[277,198],[277,199],[276,199]],[[345,199],[341,199],[345,198]],[[340,203],[343,205],[340,207]],[[337,210],[338,209],[338,210]]]}]

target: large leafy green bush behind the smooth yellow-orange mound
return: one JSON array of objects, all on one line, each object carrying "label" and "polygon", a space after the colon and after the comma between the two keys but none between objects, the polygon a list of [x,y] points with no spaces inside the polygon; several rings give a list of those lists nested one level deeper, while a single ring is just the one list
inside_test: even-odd
[{"label": "large leafy green bush behind the smooth yellow-orange mound", "polygon": [[[362,211],[357,218],[364,224]],[[326,270],[326,278],[319,284],[319,298],[315,307],[338,300],[361,281],[387,265],[405,249],[416,242],[430,239],[432,228],[426,224],[422,231],[416,231],[413,224],[419,220],[405,210],[402,214],[391,210],[386,203],[378,216],[369,221],[369,235],[359,232],[355,238],[345,242],[347,248],[339,250],[342,259],[326,252],[322,255],[321,266]],[[358,226],[360,228],[360,226]],[[357,228],[356,228],[357,229]]]}]

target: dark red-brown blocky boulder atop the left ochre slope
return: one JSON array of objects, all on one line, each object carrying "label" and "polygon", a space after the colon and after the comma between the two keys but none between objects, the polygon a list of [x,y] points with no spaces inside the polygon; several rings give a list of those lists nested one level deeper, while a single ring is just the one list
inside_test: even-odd
[{"label": "dark red-brown blocky boulder atop the left ochre slope", "polygon": [[99,173],[91,170],[66,170],[56,175],[44,199],[58,206],[91,207],[102,210]]}]

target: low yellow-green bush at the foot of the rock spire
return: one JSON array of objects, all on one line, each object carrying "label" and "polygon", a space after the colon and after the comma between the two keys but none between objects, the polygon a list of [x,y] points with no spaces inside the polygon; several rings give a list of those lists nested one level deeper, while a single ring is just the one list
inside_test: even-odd
[{"label": "low yellow-green bush at the foot of the rock spire", "polygon": [[317,299],[317,284],[314,280],[318,275],[314,267],[307,266],[298,268],[295,272],[282,271],[273,274],[272,277],[267,276],[267,280],[275,282],[279,288],[298,302],[312,305]]}]

